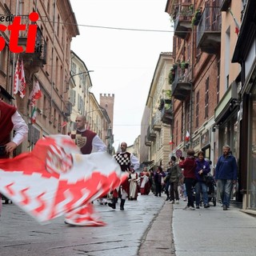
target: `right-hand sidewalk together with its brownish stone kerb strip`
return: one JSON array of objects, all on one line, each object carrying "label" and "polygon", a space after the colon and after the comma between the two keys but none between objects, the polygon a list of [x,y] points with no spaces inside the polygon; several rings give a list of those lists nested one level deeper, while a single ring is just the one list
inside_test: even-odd
[{"label": "right-hand sidewalk together with its brownish stone kerb strip", "polygon": [[149,226],[139,256],[253,256],[256,255],[256,218],[217,203],[210,208],[182,210],[186,202],[164,202]]}]

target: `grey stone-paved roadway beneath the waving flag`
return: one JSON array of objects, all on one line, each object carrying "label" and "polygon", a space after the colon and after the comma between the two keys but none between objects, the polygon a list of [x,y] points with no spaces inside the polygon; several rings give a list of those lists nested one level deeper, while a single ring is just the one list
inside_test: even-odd
[{"label": "grey stone-paved roadway beneath the waving flag", "polygon": [[[117,209],[112,210],[109,206],[101,206],[94,202],[96,210],[107,224],[100,227],[68,226],[64,223],[64,217],[41,225],[14,204],[3,205],[0,221],[0,255],[138,255],[138,248],[144,242],[151,222],[162,209],[165,198],[154,197],[154,194],[139,195],[138,201],[126,201],[124,211],[119,210],[119,203]],[[165,212],[170,216],[170,204],[167,207],[168,210]],[[169,220],[166,217],[163,219],[169,226],[166,226],[166,223],[158,226],[162,237],[154,232],[154,239],[162,240],[165,246],[170,247],[165,239],[168,239],[167,234],[170,234],[171,216]],[[139,255],[150,254],[146,253],[146,250],[152,252],[152,246],[152,242],[145,242]],[[166,248],[164,251],[166,252]]]}]

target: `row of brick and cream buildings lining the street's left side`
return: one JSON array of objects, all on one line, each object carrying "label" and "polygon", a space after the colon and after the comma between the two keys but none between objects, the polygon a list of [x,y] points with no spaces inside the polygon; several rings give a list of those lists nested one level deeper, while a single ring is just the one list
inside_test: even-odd
[{"label": "row of brick and cream buildings lining the street's left side", "polygon": [[[110,130],[110,117],[90,93],[92,82],[85,63],[70,51],[72,38],[79,34],[78,25],[69,0],[6,0],[0,2],[1,14],[6,17],[2,24],[11,24],[14,16],[21,17],[26,25],[18,37],[18,46],[26,49],[28,39],[29,14],[38,13],[36,43],[33,54],[25,51],[14,54],[10,51],[10,34],[3,32],[5,48],[0,52],[0,97],[18,107],[29,125],[26,142],[16,150],[16,154],[27,149],[42,136],[48,134],[68,134],[75,129],[74,121],[78,114],[88,118],[88,127],[97,132],[112,154],[113,134]],[[23,62],[26,78],[26,93],[23,98],[14,94],[14,73],[17,62]],[[38,82],[41,98],[30,105],[30,93]],[[33,112],[33,110],[35,110]],[[32,112],[36,114],[31,122]],[[113,119],[113,112],[112,112]]]}]

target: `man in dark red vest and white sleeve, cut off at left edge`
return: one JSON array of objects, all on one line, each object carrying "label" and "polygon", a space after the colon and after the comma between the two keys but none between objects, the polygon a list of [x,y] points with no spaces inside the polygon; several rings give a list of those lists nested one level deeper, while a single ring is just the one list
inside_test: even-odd
[{"label": "man in dark red vest and white sleeve, cut off at left edge", "polygon": [[[11,131],[15,130],[11,139]],[[0,159],[10,158],[10,154],[20,145],[28,134],[28,126],[22,116],[18,114],[16,107],[2,102],[0,99]],[[2,196],[0,194],[0,215],[2,210]],[[6,201],[7,198],[3,197]]]}]

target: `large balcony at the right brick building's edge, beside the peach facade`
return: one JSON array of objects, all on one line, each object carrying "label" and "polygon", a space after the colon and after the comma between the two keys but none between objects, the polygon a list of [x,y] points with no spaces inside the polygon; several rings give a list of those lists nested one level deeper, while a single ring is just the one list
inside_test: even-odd
[{"label": "large balcony at the right brick building's edge, beside the peach facade", "polygon": [[197,28],[197,47],[217,54],[221,46],[222,14],[218,6],[206,6]]}]

